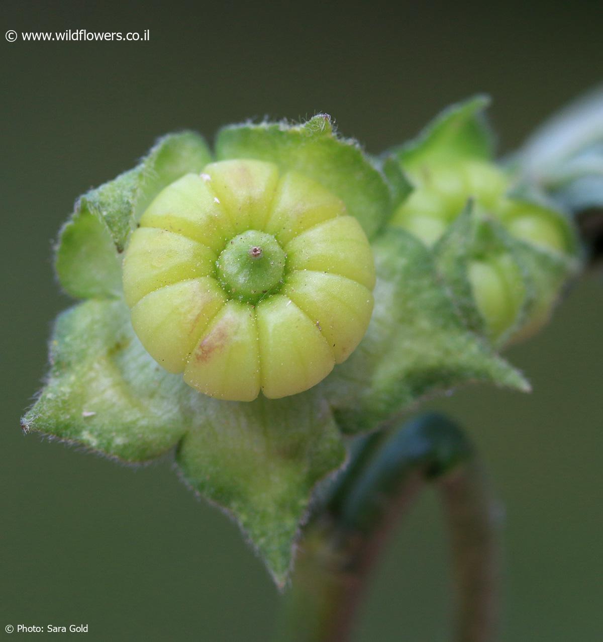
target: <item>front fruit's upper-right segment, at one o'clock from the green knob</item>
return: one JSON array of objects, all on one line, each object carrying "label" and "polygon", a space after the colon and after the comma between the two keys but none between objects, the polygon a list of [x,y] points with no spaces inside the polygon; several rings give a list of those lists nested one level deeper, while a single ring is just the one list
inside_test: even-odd
[{"label": "front fruit's upper-right segment, at one o'clock from the green knob", "polygon": [[266,232],[286,245],[313,225],[345,214],[339,198],[314,180],[290,172],[280,180]]}]

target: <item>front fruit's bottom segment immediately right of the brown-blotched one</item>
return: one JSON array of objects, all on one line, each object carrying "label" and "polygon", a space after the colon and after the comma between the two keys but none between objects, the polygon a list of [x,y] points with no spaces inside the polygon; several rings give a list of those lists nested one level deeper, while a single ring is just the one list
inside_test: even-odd
[{"label": "front fruit's bottom segment immediately right of the brown-blotched one", "polygon": [[333,369],[332,348],[302,310],[282,295],[257,308],[262,391],[269,399],[308,390]]}]

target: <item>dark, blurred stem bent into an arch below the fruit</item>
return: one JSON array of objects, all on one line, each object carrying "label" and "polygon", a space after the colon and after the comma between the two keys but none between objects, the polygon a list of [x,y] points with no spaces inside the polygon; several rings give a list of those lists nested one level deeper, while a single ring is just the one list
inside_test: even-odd
[{"label": "dark, blurred stem bent into an arch below the fruit", "polygon": [[457,642],[494,639],[493,510],[473,450],[438,415],[362,438],[300,545],[277,639],[344,642],[384,542],[425,483],[441,492],[452,541]]}]

